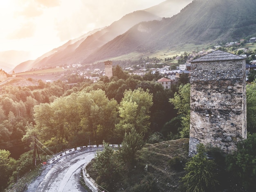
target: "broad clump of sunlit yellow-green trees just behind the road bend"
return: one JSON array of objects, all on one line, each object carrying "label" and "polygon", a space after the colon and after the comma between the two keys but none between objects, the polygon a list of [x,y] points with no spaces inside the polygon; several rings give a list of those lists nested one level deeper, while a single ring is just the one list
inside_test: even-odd
[{"label": "broad clump of sunlit yellow-green trees just behind the road bend", "polygon": [[52,146],[113,141],[117,109],[117,101],[109,100],[101,89],[83,90],[35,106],[35,129],[38,137]]}]

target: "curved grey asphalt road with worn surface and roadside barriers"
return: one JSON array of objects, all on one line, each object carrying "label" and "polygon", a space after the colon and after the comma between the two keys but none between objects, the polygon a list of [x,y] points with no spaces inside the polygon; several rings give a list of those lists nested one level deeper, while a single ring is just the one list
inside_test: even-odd
[{"label": "curved grey asphalt road with worn surface and roadside barriers", "polygon": [[45,166],[43,173],[28,186],[27,192],[86,192],[79,184],[81,168],[101,148],[82,148]]}]

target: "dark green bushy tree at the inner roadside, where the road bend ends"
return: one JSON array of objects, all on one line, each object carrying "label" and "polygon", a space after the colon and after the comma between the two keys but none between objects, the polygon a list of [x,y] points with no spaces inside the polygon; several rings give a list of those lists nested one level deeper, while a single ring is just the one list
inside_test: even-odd
[{"label": "dark green bushy tree at the inner roadside, where the road bend ends", "polygon": [[119,152],[121,158],[128,166],[135,165],[135,154],[144,146],[143,135],[138,133],[134,128],[129,133],[125,133],[122,147]]}]

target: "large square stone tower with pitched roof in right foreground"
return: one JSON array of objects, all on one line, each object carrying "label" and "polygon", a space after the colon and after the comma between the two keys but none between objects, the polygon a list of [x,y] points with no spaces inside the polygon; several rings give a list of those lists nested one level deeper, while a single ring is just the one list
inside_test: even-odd
[{"label": "large square stone tower with pitched roof in right foreground", "polygon": [[220,50],[191,61],[189,156],[198,143],[236,150],[247,138],[245,58]]}]

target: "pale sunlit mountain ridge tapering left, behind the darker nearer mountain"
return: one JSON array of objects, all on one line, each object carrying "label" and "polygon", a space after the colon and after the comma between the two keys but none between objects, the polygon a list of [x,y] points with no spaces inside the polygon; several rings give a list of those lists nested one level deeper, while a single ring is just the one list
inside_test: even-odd
[{"label": "pale sunlit mountain ridge tapering left, behind the darker nearer mountain", "polygon": [[61,47],[53,49],[32,62],[27,61],[25,63],[21,63],[14,70],[21,72],[44,66],[54,67],[58,65],[80,63],[93,51],[106,44],[116,36],[124,33],[133,25],[141,21],[155,19],[161,18],[146,11],[134,11],[133,13],[129,13],[122,17],[120,20],[113,22],[110,26],[91,31],[83,38],[69,41]]}]

